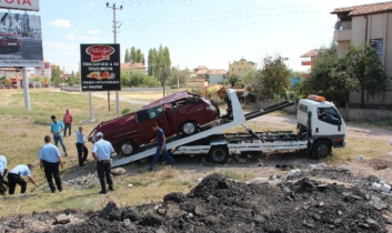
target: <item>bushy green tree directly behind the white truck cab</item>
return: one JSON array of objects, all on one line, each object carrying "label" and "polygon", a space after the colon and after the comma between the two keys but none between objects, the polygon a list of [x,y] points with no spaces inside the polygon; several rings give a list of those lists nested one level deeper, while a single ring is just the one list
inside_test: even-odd
[{"label": "bushy green tree directly behind the white truck cab", "polygon": [[349,63],[346,58],[338,58],[335,43],[320,48],[310,77],[294,88],[295,92],[300,95],[319,94],[334,102],[345,101],[355,89],[355,81],[348,71]]}]

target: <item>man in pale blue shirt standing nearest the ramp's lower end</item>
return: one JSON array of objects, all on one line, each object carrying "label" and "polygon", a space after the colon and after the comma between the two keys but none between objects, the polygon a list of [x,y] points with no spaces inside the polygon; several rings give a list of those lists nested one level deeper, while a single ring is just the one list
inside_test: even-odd
[{"label": "man in pale blue shirt standing nearest the ramp's lower end", "polygon": [[114,191],[113,180],[110,176],[110,163],[112,153],[114,153],[112,144],[103,140],[103,134],[98,132],[96,134],[96,143],[92,146],[92,156],[97,161],[98,178],[101,183],[101,192],[99,193],[101,194],[107,193],[107,184],[104,182],[104,178],[107,178],[109,190]]}]

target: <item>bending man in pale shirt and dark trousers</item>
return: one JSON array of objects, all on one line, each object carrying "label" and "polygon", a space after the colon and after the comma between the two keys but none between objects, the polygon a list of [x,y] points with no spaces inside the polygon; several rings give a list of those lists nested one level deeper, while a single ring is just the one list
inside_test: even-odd
[{"label": "bending man in pale shirt and dark trousers", "polygon": [[14,189],[17,184],[19,184],[21,188],[20,193],[26,193],[26,189],[28,184],[22,176],[28,176],[31,183],[33,183],[37,188],[39,188],[39,185],[36,183],[34,179],[31,175],[31,170],[32,170],[31,164],[28,164],[28,165],[19,164],[8,173],[7,179],[10,185],[8,193],[10,195],[14,193]]}]

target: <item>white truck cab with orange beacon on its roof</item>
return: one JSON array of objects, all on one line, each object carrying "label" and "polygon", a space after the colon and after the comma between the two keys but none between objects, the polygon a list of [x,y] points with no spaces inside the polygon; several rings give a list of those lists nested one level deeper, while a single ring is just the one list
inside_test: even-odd
[{"label": "white truck cab with orange beacon on its roof", "polygon": [[311,94],[298,104],[298,130],[309,140],[309,151],[325,158],[332,148],[345,148],[345,123],[336,107],[325,98]]}]

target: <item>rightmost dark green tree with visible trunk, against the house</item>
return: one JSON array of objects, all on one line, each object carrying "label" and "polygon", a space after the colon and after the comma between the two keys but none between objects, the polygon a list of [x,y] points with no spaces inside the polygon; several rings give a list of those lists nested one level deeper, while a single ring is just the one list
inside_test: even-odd
[{"label": "rightmost dark green tree with visible trunk, against the house", "polygon": [[345,55],[349,63],[349,74],[356,83],[356,91],[361,91],[361,108],[364,103],[364,92],[374,97],[390,90],[390,77],[386,75],[375,50],[366,44],[364,49],[350,44]]}]

